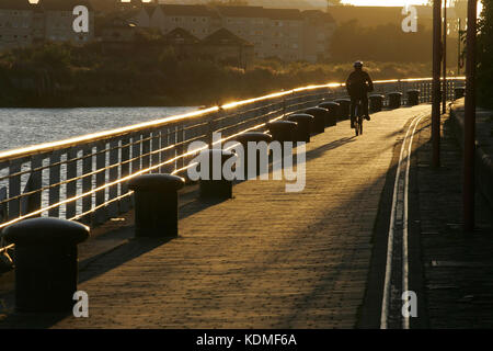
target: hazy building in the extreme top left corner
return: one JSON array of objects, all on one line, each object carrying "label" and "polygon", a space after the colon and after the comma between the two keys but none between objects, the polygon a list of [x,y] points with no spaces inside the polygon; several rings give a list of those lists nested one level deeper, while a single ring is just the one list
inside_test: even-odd
[{"label": "hazy building in the extreme top left corner", "polygon": [[0,0],[0,50],[31,45],[33,19],[28,0]]}]

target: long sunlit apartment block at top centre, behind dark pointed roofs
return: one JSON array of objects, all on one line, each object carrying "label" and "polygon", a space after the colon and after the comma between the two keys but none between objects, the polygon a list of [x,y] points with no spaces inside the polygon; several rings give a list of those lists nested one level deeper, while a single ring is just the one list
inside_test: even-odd
[{"label": "long sunlit apartment block at top centre, behind dark pointed roofs", "polygon": [[328,58],[335,27],[332,16],[318,10],[301,12],[246,5],[144,5],[134,19],[139,26],[147,26],[144,24],[147,16],[149,26],[159,29],[162,34],[183,29],[203,39],[226,29],[253,44],[255,58],[277,57],[286,61],[314,63]]}]

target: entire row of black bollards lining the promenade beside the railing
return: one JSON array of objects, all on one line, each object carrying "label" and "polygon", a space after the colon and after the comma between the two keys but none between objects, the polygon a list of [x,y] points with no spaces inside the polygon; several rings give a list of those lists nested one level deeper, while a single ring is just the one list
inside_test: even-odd
[{"label": "entire row of black bollards lining the promenade beside the railing", "polygon": [[[460,92],[460,91],[459,91]],[[419,91],[408,91],[409,104],[419,103]],[[458,92],[456,91],[456,97]],[[402,93],[389,93],[389,107],[401,104]],[[369,97],[371,111],[381,111],[383,95]],[[249,141],[271,143],[277,140],[309,143],[312,135],[335,126],[337,120],[349,117],[351,100],[322,101],[318,106],[291,113],[284,120],[267,123],[270,134],[246,132],[234,140],[243,145],[244,160],[249,159]],[[256,149],[256,152],[261,152]],[[221,167],[231,162],[236,154],[222,149],[204,152],[208,162],[208,179],[199,182],[203,199],[232,197],[232,180],[214,177],[213,160]],[[260,157],[256,155],[256,176]],[[264,155],[265,156],[265,155]],[[199,165],[203,167],[203,163]],[[244,172],[249,174],[244,162]],[[135,236],[175,238],[179,235],[179,190],[185,180],[171,174],[144,174],[128,182],[135,200]],[[41,217],[15,223],[3,230],[8,242],[15,244],[15,307],[25,313],[69,312],[78,283],[78,244],[88,239],[89,227],[77,222]]]}]

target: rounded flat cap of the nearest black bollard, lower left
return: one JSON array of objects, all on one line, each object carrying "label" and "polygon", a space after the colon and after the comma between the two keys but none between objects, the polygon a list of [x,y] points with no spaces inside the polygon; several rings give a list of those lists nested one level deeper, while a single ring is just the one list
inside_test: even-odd
[{"label": "rounded flat cap of the nearest black bollard, lower left", "polygon": [[20,246],[77,245],[88,239],[89,227],[78,222],[41,217],[14,223],[3,229],[7,241]]}]

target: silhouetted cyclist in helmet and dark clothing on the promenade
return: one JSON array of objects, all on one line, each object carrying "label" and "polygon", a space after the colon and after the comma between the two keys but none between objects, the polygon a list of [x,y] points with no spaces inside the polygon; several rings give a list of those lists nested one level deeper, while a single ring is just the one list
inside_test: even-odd
[{"label": "silhouetted cyclist in helmet and dark clothing on the promenade", "polygon": [[362,101],[363,115],[369,121],[368,115],[368,92],[374,91],[374,82],[368,72],[363,70],[363,63],[354,63],[354,71],[346,80],[346,90],[351,97],[351,127],[354,128],[354,115],[358,101]]}]

